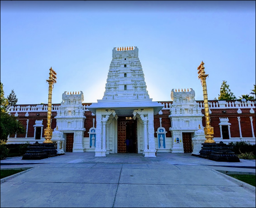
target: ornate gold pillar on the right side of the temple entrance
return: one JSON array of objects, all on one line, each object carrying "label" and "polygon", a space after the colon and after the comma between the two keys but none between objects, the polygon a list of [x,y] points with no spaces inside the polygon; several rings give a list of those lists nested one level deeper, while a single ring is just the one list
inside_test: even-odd
[{"label": "ornate gold pillar on the right side of the temple entrance", "polygon": [[210,113],[209,113],[209,105],[208,105],[208,96],[207,96],[207,85],[206,85],[206,78],[209,74],[205,74],[204,72],[204,63],[198,66],[198,79],[201,80],[201,84],[203,87],[203,95],[204,95],[204,116],[205,116],[205,123],[206,126],[204,127],[204,134],[206,140],[204,143],[215,143],[213,140],[213,127],[210,124]]}]

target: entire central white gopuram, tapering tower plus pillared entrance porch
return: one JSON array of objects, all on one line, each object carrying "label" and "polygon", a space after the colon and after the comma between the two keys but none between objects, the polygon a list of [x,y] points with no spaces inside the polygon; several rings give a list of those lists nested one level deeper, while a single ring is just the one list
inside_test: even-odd
[{"label": "entire central white gopuram, tapering tower plus pillared entrance porch", "polygon": [[[163,105],[153,102],[146,90],[146,82],[137,47],[120,47],[112,50],[112,61],[102,100],[86,106],[96,114],[95,156],[117,153],[122,144],[118,117],[137,120],[138,153],[155,157],[154,114]],[[123,141],[121,143],[124,143]]]}]

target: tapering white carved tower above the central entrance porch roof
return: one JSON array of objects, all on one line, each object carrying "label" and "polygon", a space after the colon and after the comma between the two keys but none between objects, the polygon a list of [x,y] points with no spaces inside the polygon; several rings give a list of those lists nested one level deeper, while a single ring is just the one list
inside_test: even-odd
[{"label": "tapering white carved tower above the central entrance porch roof", "polygon": [[102,100],[152,101],[146,90],[146,82],[138,57],[139,49],[112,50],[107,83]]}]

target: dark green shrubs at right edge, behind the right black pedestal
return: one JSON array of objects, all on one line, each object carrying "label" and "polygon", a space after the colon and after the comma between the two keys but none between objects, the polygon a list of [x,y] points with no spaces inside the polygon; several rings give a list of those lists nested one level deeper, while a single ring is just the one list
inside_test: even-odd
[{"label": "dark green shrubs at right edge, behind the right black pedestal", "polygon": [[229,145],[233,147],[235,154],[252,152],[252,154],[255,155],[256,145],[252,145],[249,141],[230,142]]}]

